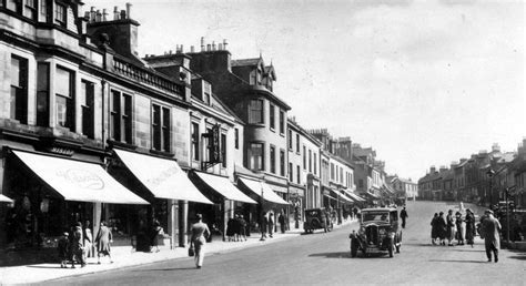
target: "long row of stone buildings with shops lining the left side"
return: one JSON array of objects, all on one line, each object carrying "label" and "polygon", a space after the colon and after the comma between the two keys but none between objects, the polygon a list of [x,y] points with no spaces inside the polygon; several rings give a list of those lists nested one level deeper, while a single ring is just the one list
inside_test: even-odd
[{"label": "long row of stone buildings with shops lining the left side", "polygon": [[[202,213],[214,233],[242,214],[396,198],[372,149],[305,130],[273,92],[273,64],[231,59],[227,42],[138,53],[131,4],[0,0],[0,247],[52,245],[101,221],[115,245],[144,243],[158,219],[185,245]],[[170,37],[168,34],[168,37]],[[393,181],[394,182],[394,181]]]}]

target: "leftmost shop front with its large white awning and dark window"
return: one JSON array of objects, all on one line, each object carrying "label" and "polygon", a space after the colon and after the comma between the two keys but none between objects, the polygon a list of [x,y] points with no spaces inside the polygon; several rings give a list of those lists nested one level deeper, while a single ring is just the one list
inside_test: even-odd
[{"label": "leftmost shop front with its large white awning and dark window", "polygon": [[104,206],[148,204],[98,163],[36,152],[7,152],[3,186],[13,200],[4,214],[10,249],[54,249],[78,222],[95,234]]}]

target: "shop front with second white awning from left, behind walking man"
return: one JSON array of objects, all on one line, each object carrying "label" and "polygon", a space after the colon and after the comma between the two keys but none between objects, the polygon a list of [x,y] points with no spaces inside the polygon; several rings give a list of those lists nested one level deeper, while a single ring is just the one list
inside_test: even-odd
[{"label": "shop front with second white awning from left, behind walking man", "polygon": [[[133,219],[135,228],[127,229],[138,251],[150,251],[152,239],[164,238],[172,247],[186,244],[189,202],[212,205],[189,180],[175,160],[113,149],[109,172],[136,195],[150,202],[150,207],[127,216],[127,206],[108,210],[119,214],[118,221]],[[164,229],[163,237],[152,237],[154,223]],[[125,225],[127,223],[123,223]],[[129,223],[128,223],[129,224]]]}]

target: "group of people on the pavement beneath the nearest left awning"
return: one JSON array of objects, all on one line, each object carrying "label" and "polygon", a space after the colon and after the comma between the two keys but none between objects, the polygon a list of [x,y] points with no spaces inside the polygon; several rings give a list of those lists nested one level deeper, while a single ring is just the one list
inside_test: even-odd
[{"label": "group of people on the pavement beneath the nearest left awning", "polygon": [[71,268],[75,268],[75,263],[80,264],[81,267],[85,267],[88,257],[94,257],[93,246],[97,248],[98,264],[100,264],[101,256],[108,256],[110,262],[112,234],[111,229],[105,225],[105,222],[101,222],[99,233],[93,242],[93,235],[90,228],[90,222],[85,222],[85,226],[82,227],[81,222],[77,222],[70,229],[64,232],[62,237],[58,241],[58,252],[60,259],[60,267],[67,268],[68,261],[71,262]]}]

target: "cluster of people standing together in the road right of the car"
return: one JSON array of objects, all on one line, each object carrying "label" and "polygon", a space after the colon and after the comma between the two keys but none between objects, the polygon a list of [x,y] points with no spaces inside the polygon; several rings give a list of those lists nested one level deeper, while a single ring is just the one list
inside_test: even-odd
[{"label": "cluster of people standing together in the road right of the car", "polygon": [[456,239],[457,245],[466,243],[473,247],[476,228],[475,215],[472,210],[466,210],[465,217],[462,216],[461,212],[453,215],[453,210],[447,211],[446,216],[444,216],[444,212],[435,213],[431,226],[431,242],[433,245],[446,245],[447,239],[447,245],[453,246],[453,242]]}]

